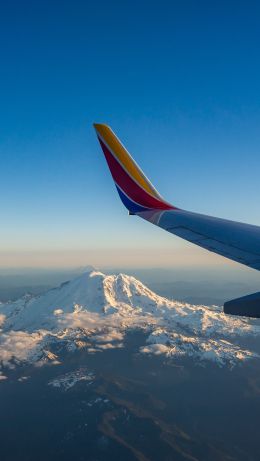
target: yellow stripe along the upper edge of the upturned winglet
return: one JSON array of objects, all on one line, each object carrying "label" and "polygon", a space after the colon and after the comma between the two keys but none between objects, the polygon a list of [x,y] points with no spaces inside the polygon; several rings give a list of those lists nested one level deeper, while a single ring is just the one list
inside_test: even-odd
[{"label": "yellow stripe along the upper edge of the upturned winglet", "polygon": [[108,125],[101,123],[94,123],[94,128],[104,139],[108,147],[113,151],[114,155],[118,158],[120,163],[124,166],[126,171],[135,179],[135,181],[153,197],[159,198],[160,195],[154,189],[150,181],[145,177],[144,173],[140,170],[125,147],[121,144],[115,133]]}]

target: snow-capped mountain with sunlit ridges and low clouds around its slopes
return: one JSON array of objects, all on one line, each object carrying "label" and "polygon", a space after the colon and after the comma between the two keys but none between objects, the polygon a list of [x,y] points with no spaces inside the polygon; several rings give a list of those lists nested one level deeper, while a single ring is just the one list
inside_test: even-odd
[{"label": "snow-capped mountain with sunlit ridges and low clouds around its slopes", "polygon": [[[91,353],[124,347],[129,329],[142,328],[140,353],[189,356],[219,365],[257,354],[240,345],[260,336],[257,321],[229,317],[217,306],[194,306],[153,293],[128,275],[86,272],[40,296],[0,305],[0,362],[57,361],[60,342],[67,350]],[[1,374],[0,374],[1,379]]]}]

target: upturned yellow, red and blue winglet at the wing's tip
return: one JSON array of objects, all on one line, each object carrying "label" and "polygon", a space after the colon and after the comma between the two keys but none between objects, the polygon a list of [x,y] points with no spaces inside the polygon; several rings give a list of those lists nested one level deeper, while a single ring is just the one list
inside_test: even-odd
[{"label": "upturned yellow, red and blue winglet at the wing's tip", "polygon": [[100,123],[95,123],[94,128],[119,196],[129,213],[175,209],[160,196],[111,128]]}]

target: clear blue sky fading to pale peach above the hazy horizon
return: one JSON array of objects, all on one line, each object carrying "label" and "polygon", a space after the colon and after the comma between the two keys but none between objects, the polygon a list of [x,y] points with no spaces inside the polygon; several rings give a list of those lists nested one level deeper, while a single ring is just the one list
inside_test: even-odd
[{"label": "clear blue sky fading to pale peach above the hazy horizon", "polygon": [[260,7],[5,2],[1,265],[219,265],[128,217],[92,128],[177,206],[260,224]]}]

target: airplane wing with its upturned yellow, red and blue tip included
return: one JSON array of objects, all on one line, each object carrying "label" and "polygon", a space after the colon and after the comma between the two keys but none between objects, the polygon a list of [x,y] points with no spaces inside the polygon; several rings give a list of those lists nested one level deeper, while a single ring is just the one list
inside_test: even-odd
[{"label": "airplane wing with its upturned yellow, red and blue tip included", "polygon": [[94,124],[94,127],[119,196],[129,214],[137,215],[206,250],[260,270],[260,227],[192,213],[166,202],[111,128],[103,124]]}]

